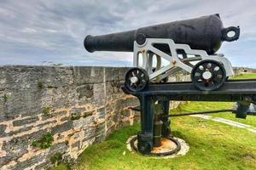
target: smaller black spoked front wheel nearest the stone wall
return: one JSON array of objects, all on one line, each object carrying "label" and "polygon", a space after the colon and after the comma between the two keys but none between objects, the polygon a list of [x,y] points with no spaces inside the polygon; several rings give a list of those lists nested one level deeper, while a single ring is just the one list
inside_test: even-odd
[{"label": "smaller black spoked front wheel nearest the stone wall", "polygon": [[131,68],[125,74],[125,87],[131,92],[139,92],[147,87],[149,77],[147,71],[140,68]]}]

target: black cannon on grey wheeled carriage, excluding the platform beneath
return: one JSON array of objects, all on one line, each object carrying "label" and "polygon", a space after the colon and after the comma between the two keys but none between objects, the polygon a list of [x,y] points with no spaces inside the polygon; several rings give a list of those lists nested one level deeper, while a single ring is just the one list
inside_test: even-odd
[{"label": "black cannon on grey wheeled carriage, excluding the platform beneath", "polygon": [[[222,42],[236,41],[239,35],[239,26],[224,28],[219,15],[212,14],[133,31],[89,35],[84,38],[84,48],[90,53],[133,52],[136,68],[125,76],[125,86],[131,91],[141,91],[149,82],[164,81],[181,70],[191,73],[196,88],[211,91],[220,88],[227,77],[234,74],[230,61],[223,54],[215,53]],[[162,58],[169,62],[168,65],[163,65]]]}]

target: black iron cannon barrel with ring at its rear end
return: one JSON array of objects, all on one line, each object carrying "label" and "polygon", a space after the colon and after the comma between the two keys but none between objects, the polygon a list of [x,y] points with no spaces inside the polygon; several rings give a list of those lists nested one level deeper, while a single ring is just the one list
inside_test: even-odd
[{"label": "black iron cannon barrel with ring at its rear end", "polygon": [[[229,36],[230,31],[234,31],[234,35]],[[95,37],[89,35],[84,39],[84,48],[90,53],[95,51],[132,52],[134,41],[143,44],[146,38],[168,38],[176,43],[188,44],[190,48],[202,49],[208,54],[214,54],[223,41],[235,41],[239,35],[239,26],[224,28],[219,15],[212,14],[195,19],[146,26],[133,31]]]}]

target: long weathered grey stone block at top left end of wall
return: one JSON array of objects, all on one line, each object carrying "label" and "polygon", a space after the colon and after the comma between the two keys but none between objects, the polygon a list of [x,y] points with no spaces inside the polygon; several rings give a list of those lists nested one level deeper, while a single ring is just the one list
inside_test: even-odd
[{"label": "long weathered grey stone block at top left end of wall", "polygon": [[0,72],[1,88],[32,88],[39,81],[53,87],[73,83],[72,67],[7,65]]}]

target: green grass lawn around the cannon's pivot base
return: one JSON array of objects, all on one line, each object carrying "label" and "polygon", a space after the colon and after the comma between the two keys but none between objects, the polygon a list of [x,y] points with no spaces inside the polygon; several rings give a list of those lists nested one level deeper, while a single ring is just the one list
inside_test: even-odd
[{"label": "green grass lawn around the cannon's pivot base", "polygon": [[[253,76],[252,76],[253,75]],[[256,74],[244,74],[235,78],[255,78]],[[230,102],[190,102],[172,110],[177,112],[210,111],[232,108]],[[237,119],[230,112],[210,114],[243,122],[256,127],[256,116]],[[172,159],[154,159],[135,154],[126,149],[126,140],[140,130],[140,125],[122,127],[100,144],[91,145],[79,156],[72,169],[130,170],[130,169],[256,169],[256,134],[239,127],[231,127],[192,116],[172,117],[172,134],[184,139],[190,146],[186,156]],[[124,154],[125,153],[125,154]],[[53,168],[63,170],[61,164]]]}]

